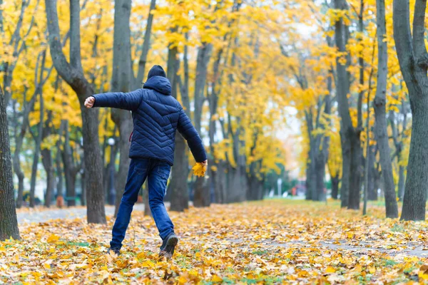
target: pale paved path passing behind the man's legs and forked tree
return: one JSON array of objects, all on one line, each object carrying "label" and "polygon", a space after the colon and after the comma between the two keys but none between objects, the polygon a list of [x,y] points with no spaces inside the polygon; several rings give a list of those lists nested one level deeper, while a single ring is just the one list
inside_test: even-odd
[{"label": "pale paved path passing behind the man's legs and forked tree", "polygon": [[[133,209],[134,211],[144,211],[144,204],[136,204]],[[106,215],[112,216],[113,214],[114,206],[106,206]],[[49,221],[49,219],[76,219],[86,217],[86,208],[73,207],[41,211],[34,209],[30,210],[30,212],[18,213],[17,216],[19,224],[24,222],[46,222]]]}]

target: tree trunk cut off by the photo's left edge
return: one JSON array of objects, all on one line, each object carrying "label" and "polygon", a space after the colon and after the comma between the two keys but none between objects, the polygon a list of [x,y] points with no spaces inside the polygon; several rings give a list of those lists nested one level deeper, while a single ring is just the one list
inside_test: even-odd
[{"label": "tree trunk cut off by the photo's left edge", "polygon": [[0,88],[0,241],[19,239],[14,200],[11,148],[3,91]]}]

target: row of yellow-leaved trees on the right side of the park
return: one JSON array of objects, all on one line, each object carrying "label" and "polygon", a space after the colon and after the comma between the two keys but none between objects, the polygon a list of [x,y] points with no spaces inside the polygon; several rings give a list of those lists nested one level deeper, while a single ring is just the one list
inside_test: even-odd
[{"label": "row of yellow-leaved trees on the right side of the park", "polygon": [[294,58],[290,94],[304,129],[307,199],[322,197],[327,164],[342,207],[360,209],[362,189],[366,205],[382,188],[387,217],[398,217],[398,193],[402,219],[425,218],[426,3],[412,8],[413,31],[405,1],[394,9],[388,0],[307,4],[317,14],[307,19],[316,26],[311,37],[300,36],[307,48],[282,47]]}]

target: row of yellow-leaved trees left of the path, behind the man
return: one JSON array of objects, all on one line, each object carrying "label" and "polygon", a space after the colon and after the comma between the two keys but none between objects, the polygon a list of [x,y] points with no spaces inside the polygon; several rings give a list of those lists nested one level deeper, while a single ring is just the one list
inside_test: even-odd
[{"label": "row of yellow-leaved trees left of the path, behind the man", "polygon": [[[195,206],[261,199],[265,175],[284,164],[276,138],[284,81],[280,50],[270,51],[282,21],[276,8],[237,0],[5,1],[1,83],[16,206],[26,177],[31,207],[37,181],[46,184],[47,207],[55,192],[75,204],[80,184],[88,222],[106,222],[109,166],[118,166],[116,202],[126,182],[131,114],[82,104],[94,93],[141,88],[148,64],[167,67],[173,95],[207,142],[209,178],[193,181]],[[188,207],[192,160],[177,135],[168,185],[173,210]]]}]

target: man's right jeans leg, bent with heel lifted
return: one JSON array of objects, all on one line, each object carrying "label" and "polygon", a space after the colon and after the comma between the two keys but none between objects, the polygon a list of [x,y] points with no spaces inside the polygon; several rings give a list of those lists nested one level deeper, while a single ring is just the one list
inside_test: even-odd
[{"label": "man's right jeans leg, bent with heel lifted", "polygon": [[163,197],[166,192],[166,182],[170,174],[170,165],[158,161],[148,173],[148,203],[162,239],[174,232],[174,225],[166,212]]}]

